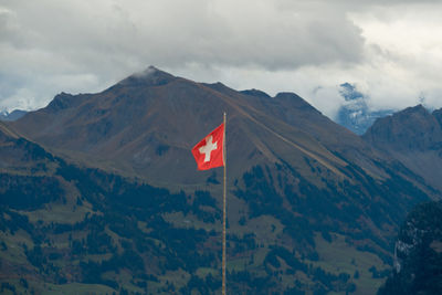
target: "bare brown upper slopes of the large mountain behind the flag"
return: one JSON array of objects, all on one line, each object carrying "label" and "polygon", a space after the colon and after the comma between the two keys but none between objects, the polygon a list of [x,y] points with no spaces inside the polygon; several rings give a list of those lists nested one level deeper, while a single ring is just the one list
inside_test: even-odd
[{"label": "bare brown upper slopes of the large mountain behind the flag", "polygon": [[[189,150],[228,113],[228,164],[232,178],[259,164],[287,161],[308,171],[308,158],[335,177],[346,157],[382,176],[379,158],[358,136],[336,125],[293,93],[275,97],[202,84],[155,67],[98,94],[62,93],[12,127],[51,150],[88,165],[164,182],[197,183],[201,173]],[[206,178],[203,178],[206,179]]]}]

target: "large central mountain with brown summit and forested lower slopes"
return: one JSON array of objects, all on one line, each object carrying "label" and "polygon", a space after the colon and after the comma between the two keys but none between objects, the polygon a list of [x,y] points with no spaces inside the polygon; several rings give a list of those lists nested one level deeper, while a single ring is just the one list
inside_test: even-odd
[{"label": "large central mountain with brown summit and forested lower slopes", "polygon": [[439,190],[294,93],[155,67],[2,125],[4,287],[219,291],[221,172],[190,149],[223,110],[229,292],[376,292],[399,224]]}]

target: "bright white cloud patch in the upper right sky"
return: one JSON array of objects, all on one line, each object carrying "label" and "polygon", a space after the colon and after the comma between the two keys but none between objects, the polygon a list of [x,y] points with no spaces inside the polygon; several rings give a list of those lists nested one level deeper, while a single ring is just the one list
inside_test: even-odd
[{"label": "bright white cloud patch in the upper right sky", "polygon": [[375,107],[415,105],[421,95],[432,107],[442,106],[442,97],[434,97],[442,89],[441,8],[413,4],[351,15],[367,40],[365,75],[358,78],[368,83]]}]

